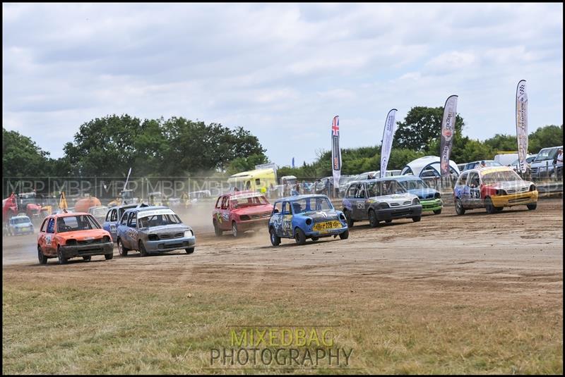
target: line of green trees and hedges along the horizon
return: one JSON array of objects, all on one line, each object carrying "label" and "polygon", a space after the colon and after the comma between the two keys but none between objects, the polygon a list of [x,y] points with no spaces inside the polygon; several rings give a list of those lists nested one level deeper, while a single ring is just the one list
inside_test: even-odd
[{"label": "line of green trees and hedges along the horizon", "polygon": [[[439,156],[443,107],[416,106],[397,122],[389,169],[400,169],[421,156]],[[463,135],[465,122],[456,117],[451,159],[457,163],[492,159],[501,151],[516,151],[516,135],[496,134],[487,140]],[[73,142],[64,145],[64,156],[52,159],[25,135],[2,128],[3,177],[122,177],[132,175],[225,176],[268,163],[266,149],[258,138],[242,127],[227,128],[219,123],[206,125],[183,117],[145,119],[106,116],[83,123]],[[529,135],[529,151],[559,145],[563,125],[546,125]],[[328,138],[329,142],[329,138]],[[381,146],[342,149],[342,174],[379,170]],[[318,153],[313,163],[290,168],[282,166],[278,175],[319,178],[331,175],[331,151]]]}]

